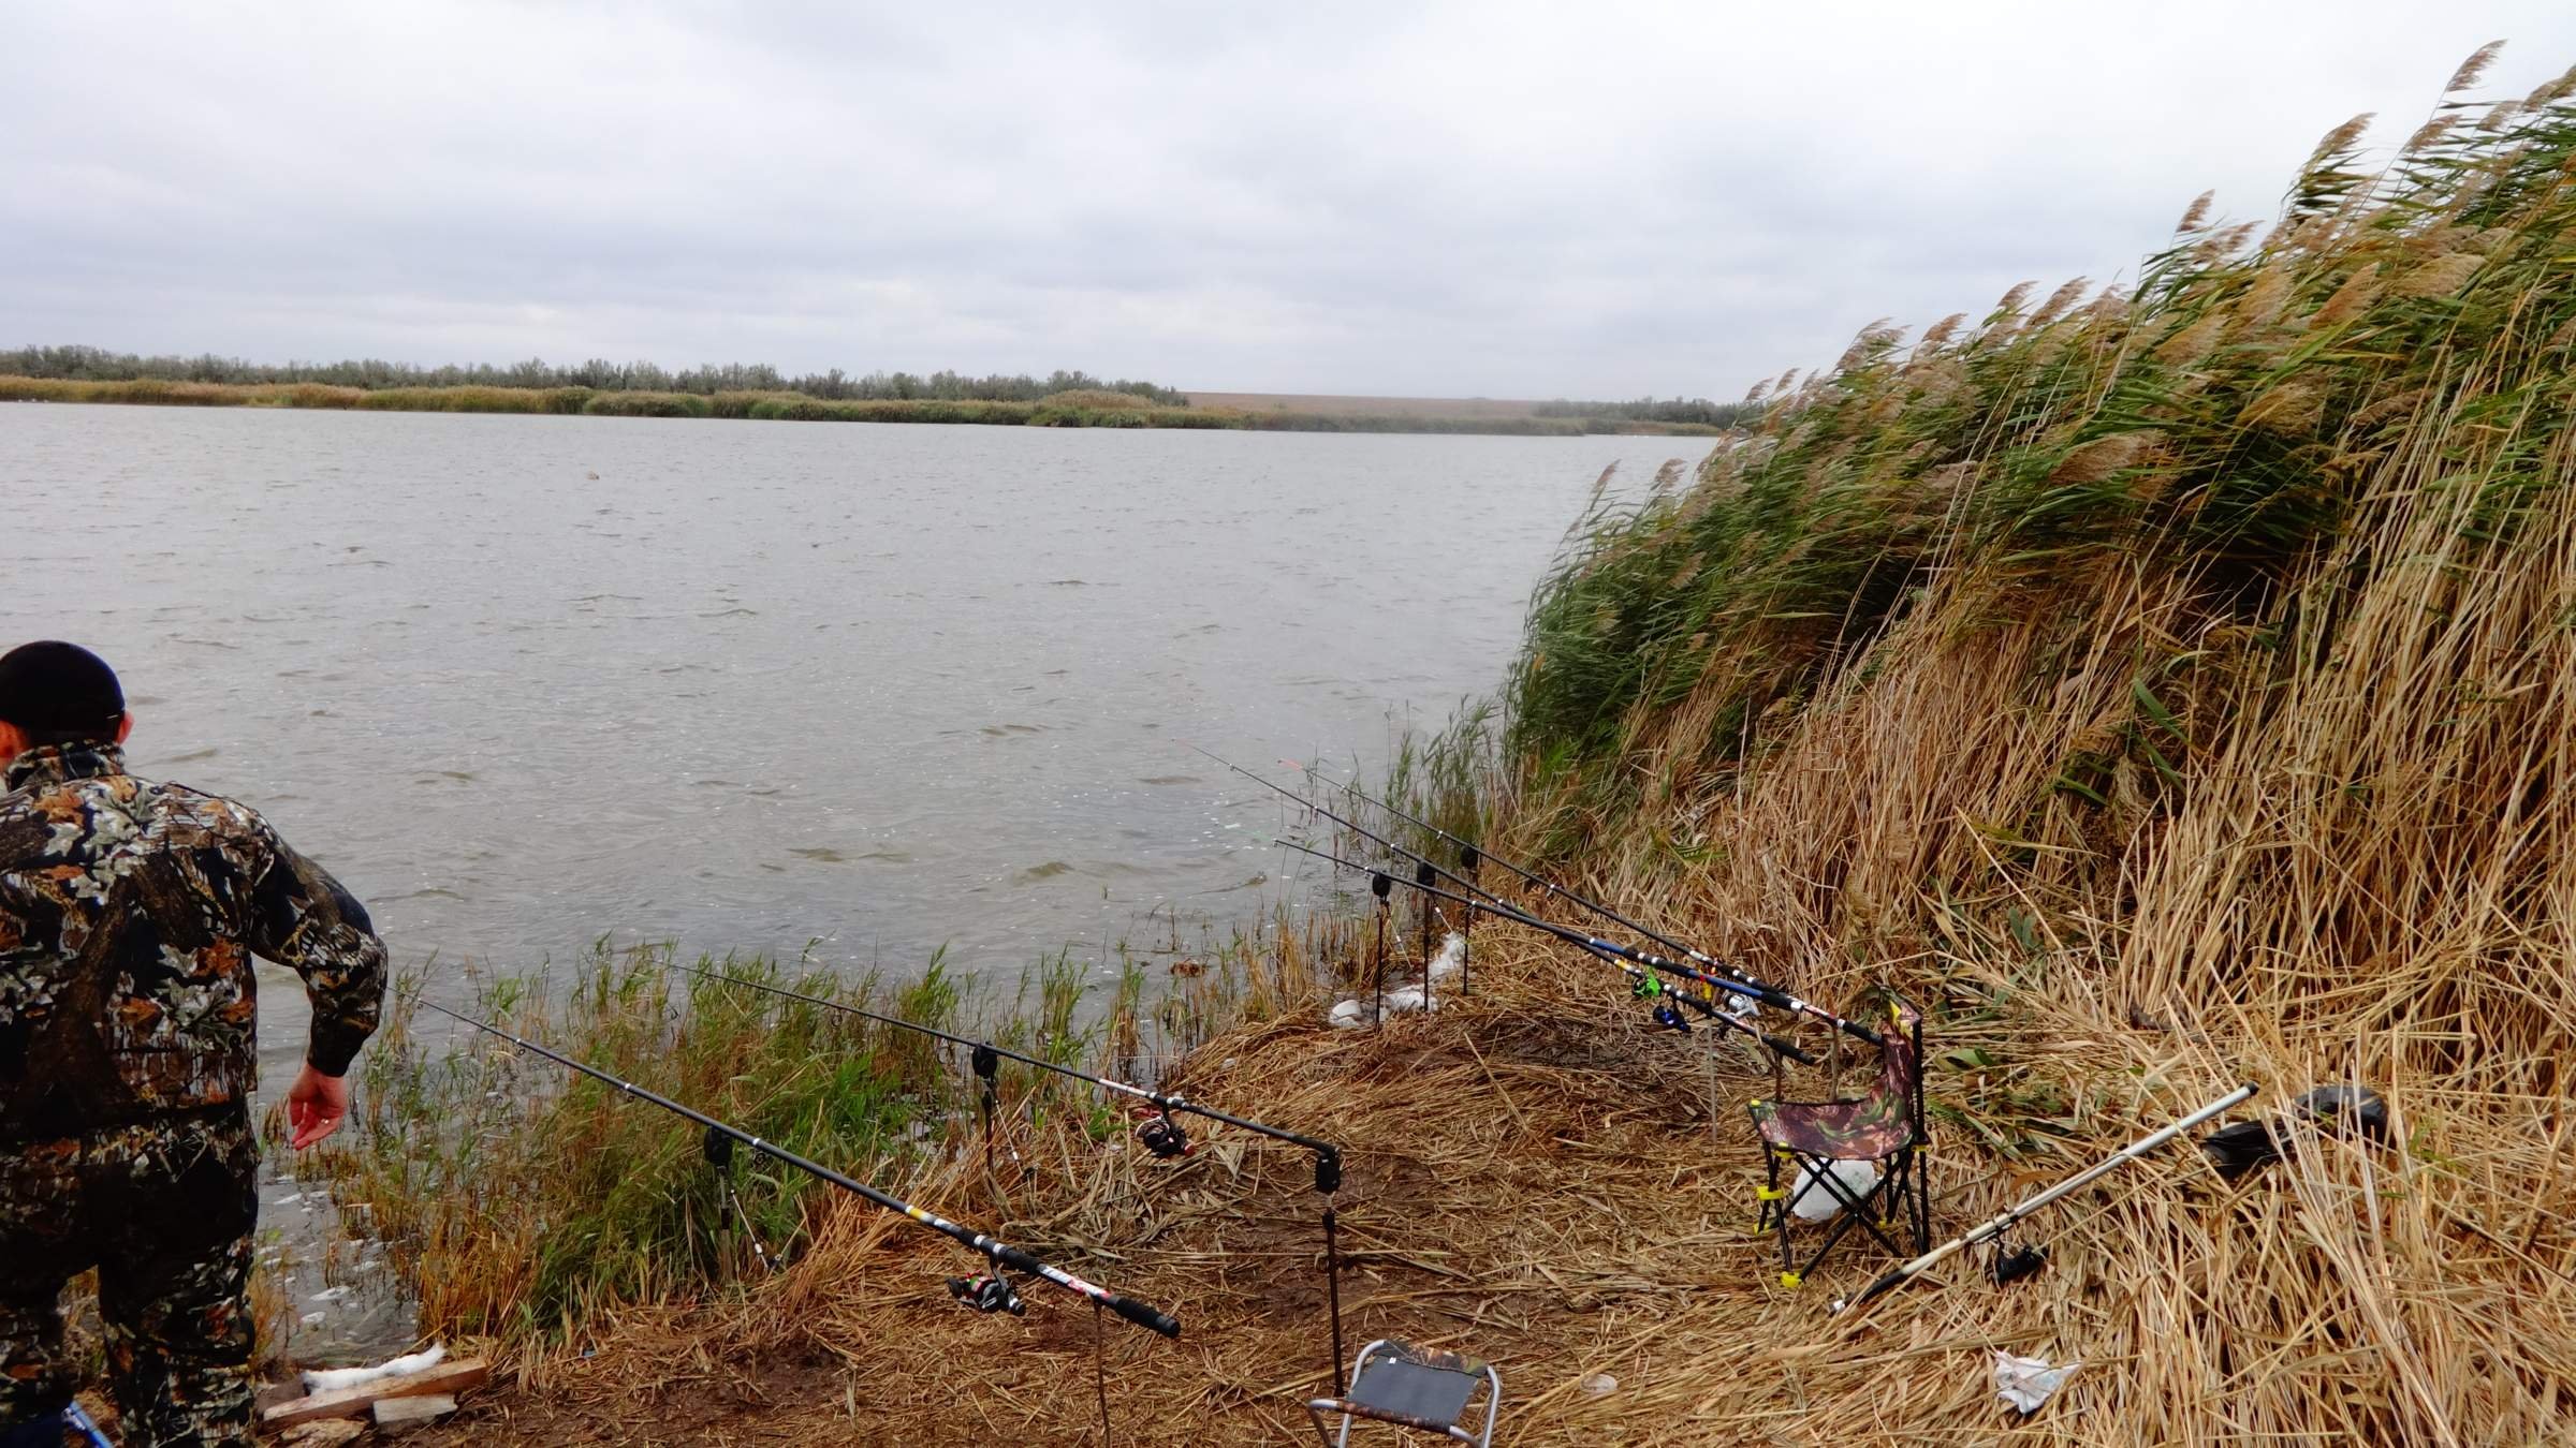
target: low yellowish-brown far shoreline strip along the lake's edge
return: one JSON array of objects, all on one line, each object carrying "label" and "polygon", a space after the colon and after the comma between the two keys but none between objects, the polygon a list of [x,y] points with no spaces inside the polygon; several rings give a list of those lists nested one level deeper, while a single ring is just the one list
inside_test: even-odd
[{"label": "low yellowish-brown far shoreline strip along the lake's edge", "polygon": [[[1262,433],[1484,433],[1504,438],[1716,438],[1705,423],[1628,417],[1458,415],[1406,410],[1162,407],[1108,392],[1038,402],[824,399],[804,392],[598,392],[590,386],[330,386],[319,381],[62,381],[0,374],[0,402],[126,407],[307,407],[337,412],[536,412],[580,417],[739,417],[760,423],[969,423],[994,428],[1206,428]],[[1368,399],[1352,399],[1368,402]],[[1409,402],[1409,399],[1406,399]]]}]

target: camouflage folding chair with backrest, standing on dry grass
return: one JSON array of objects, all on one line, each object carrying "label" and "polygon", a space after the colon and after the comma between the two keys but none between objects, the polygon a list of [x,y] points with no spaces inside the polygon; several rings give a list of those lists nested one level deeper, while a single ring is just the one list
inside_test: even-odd
[{"label": "camouflage folding chair with backrest, standing on dry grass", "polygon": [[[1919,1257],[1932,1247],[1932,1188],[1924,1177],[1924,1018],[1901,995],[1880,989],[1878,1082],[1860,1100],[1757,1100],[1754,1131],[1762,1134],[1762,1224],[1780,1232],[1780,1286],[1798,1286],[1852,1226],[1878,1239],[1899,1257]],[[1855,1013],[1862,1020],[1865,1013]],[[1855,1190],[1834,1175],[1837,1162],[1870,1162],[1878,1183]],[[1780,1170],[1798,1183],[1798,1198],[1780,1185]],[[1795,1206],[1808,1193],[1826,1193],[1842,1208],[1824,1242],[1806,1262],[1788,1239]],[[1911,1229],[1914,1247],[1899,1247],[1888,1232]]]}]

